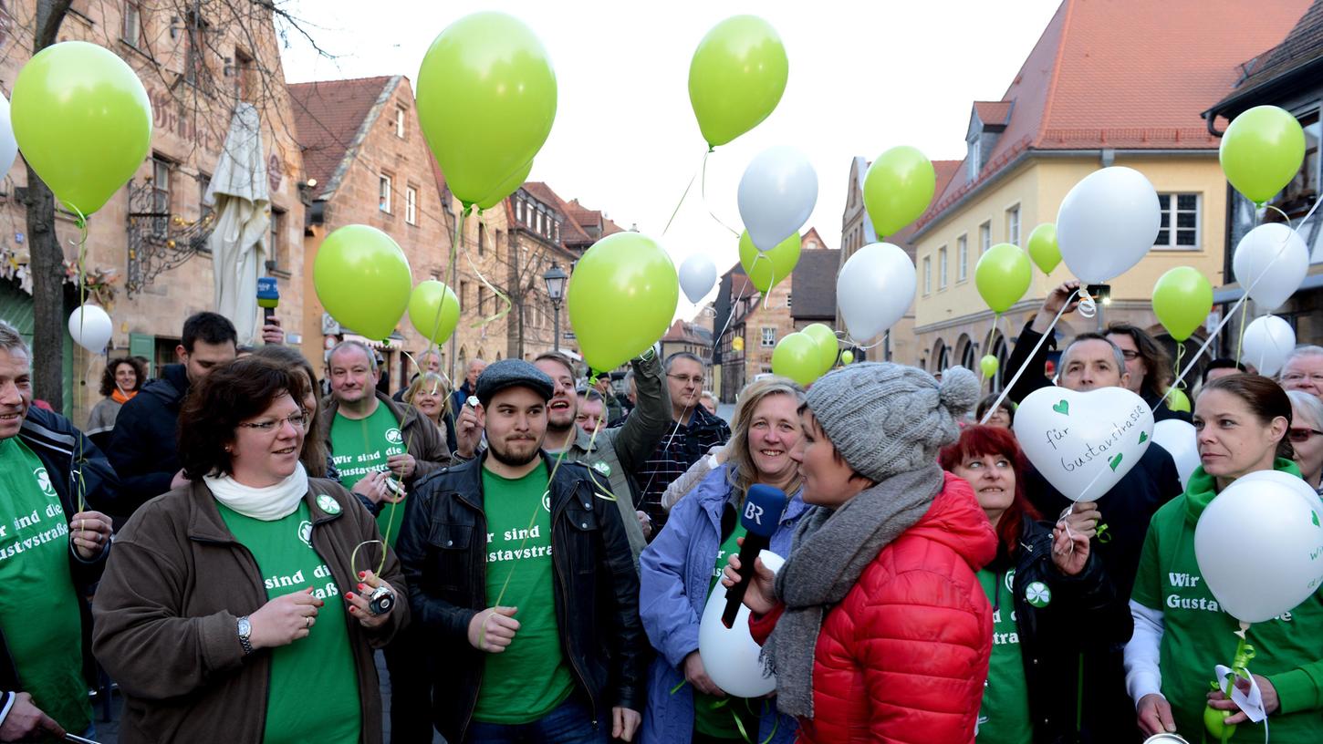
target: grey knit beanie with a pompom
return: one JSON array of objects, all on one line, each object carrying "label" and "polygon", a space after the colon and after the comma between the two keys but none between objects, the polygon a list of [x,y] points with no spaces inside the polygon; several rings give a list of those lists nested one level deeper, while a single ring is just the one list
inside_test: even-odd
[{"label": "grey knit beanie with a pompom", "polygon": [[959,437],[957,419],[979,399],[979,379],[950,367],[938,383],[917,367],[845,365],[808,389],[808,410],[861,476],[882,481],[937,461]]}]

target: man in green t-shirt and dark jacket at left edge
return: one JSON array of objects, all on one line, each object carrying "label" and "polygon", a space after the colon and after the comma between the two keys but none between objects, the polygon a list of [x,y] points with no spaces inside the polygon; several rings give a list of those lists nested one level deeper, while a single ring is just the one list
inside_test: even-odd
[{"label": "man in green t-shirt and dark jacket at left edge", "polygon": [[110,554],[110,463],[69,419],[32,406],[32,354],[0,321],[0,741],[91,736],[83,597]]}]

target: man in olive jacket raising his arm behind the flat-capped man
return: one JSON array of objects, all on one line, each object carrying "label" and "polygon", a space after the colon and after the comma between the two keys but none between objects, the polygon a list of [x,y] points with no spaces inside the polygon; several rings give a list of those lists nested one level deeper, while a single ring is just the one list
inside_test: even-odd
[{"label": "man in olive jacket raising his arm behind the flat-capped man", "polygon": [[647,547],[647,538],[652,534],[652,522],[647,514],[634,507],[636,486],[630,481],[630,473],[643,466],[671,423],[656,353],[648,349],[631,362],[639,400],[634,414],[618,428],[599,428],[597,436],[574,426],[579,404],[574,394],[574,365],[569,357],[550,352],[533,359],[533,365],[554,383],[552,400],[546,407],[546,441],[542,449],[553,456],[564,452],[565,460],[583,463],[610,484],[611,496],[615,497],[624,530],[630,535],[634,562],[638,563],[639,554]]}]

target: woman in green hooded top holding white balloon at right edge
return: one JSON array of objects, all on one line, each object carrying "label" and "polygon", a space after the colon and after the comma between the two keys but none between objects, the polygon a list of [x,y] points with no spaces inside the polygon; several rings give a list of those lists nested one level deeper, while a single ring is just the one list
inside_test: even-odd
[{"label": "woman in green hooded top holding white balloon at right edge", "polygon": [[[1139,727],[1148,735],[1204,732],[1204,707],[1230,711],[1236,725],[1224,741],[1263,741],[1221,691],[1209,692],[1216,665],[1229,665],[1240,624],[1221,611],[1195,559],[1195,530],[1204,509],[1236,480],[1259,470],[1299,477],[1286,433],[1291,402],[1275,382],[1257,374],[1209,381],[1195,402],[1200,465],[1185,493],[1158,510],[1148,527],[1130,600],[1135,633],[1126,645],[1126,688]],[[1286,445],[1285,448],[1282,445]],[[1240,546],[1229,544],[1237,551]],[[1278,744],[1323,741],[1323,597],[1315,592],[1295,609],[1256,622],[1250,671]],[[1246,690],[1248,691],[1248,690]],[[1209,739],[1211,740],[1211,739]]]}]

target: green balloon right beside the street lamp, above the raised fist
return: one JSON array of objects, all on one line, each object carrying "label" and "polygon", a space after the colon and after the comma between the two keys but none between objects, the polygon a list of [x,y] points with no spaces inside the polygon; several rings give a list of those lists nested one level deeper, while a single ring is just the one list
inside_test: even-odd
[{"label": "green balloon right beside the street lamp, above the raised fist", "polygon": [[583,358],[609,371],[662,338],[679,301],[680,276],[662,246],[639,233],[617,233],[574,266],[565,304]]}]

